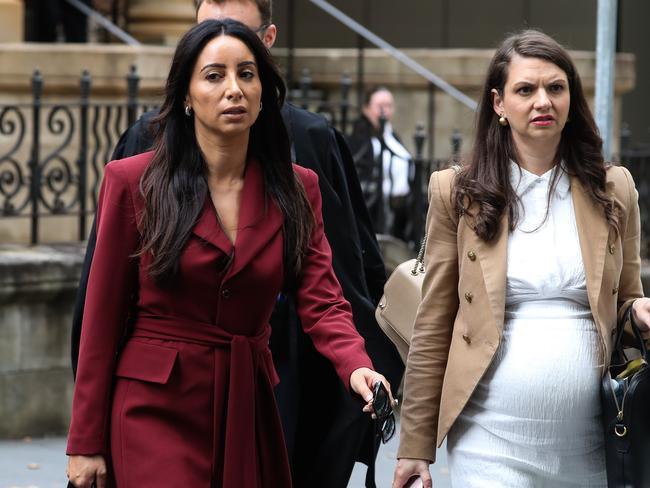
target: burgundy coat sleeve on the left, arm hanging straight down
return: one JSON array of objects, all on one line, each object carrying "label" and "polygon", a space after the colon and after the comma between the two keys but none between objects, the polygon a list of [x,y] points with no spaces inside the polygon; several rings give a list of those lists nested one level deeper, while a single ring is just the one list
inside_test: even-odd
[{"label": "burgundy coat sleeve on the left, arm hanging straight down", "polygon": [[83,315],[67,454],[107,454],[118,346],[137,292],[139,233],[124,168],[106,166]]}]

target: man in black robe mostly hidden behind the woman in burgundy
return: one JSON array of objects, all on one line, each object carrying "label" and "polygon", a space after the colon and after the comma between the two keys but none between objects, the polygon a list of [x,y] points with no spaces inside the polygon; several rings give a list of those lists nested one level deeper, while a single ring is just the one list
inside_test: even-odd
[{"label": "man in black robe mostly hidden behind the woman in burgundy", "polygon": [[[277,29],[271,22],[270,0],[205,0],[197,4],[199,22],[230,17],[257,32],[268,48],[275,42]],[[151,148],[149,122],[155,115],[144,114],[122,135],[113,159]],[[385,282],[384,264],[350,152],[341,134],[323,117],[291,104],[285,104],[282,115],[292,140],[294,160],[319,176],[334,272],[352,305],[355,325],[366,341],[375,369],[397,389],[404,367],[374,317]],[[73,321],[73,369],[94,245],[93,226]],[[294,486],[345,488],[356,460],[369,466],[366,486],[375,486],[374,460],[379,439],[374,422],[362,415],[359,403],[345,390],[334,368],[302,332],[290,299],[280,297],[271,326],[271,350],[281,379],[276,398]]]}]

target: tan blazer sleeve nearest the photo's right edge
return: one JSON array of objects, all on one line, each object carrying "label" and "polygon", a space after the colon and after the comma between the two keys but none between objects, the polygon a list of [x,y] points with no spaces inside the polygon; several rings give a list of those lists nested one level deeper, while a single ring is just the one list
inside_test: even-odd
[{"label": "tan blazer sleeve nearest the photo's right edge", "polygon": [[[618,170],[619,168],[611,168]],[[618,319],[621,320],[625,310],[632,302],[643,296],[641,284],[641,219],[639,214],[639,193],[634,186],[634,180],[627,168],[620,167],[623,172],[623,185],[627,190],[626,198],[621,202],[625,207],[624,220],[619,222],[621,229],[621,245],[623,247],[623,266],[619,277],[618,286]],[[623,180],[623,178],[621,178]],[[628,325],[628,333],[633,337],[632,329]],[[646,339],[648,334],[645,334]]]}]

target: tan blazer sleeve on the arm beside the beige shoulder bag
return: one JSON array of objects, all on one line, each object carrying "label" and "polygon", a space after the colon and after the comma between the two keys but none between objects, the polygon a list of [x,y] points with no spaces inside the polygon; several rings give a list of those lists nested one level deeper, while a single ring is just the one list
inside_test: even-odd
[{"label": "tan blazer sleeve on the arm beside the beige shoulder bag", "polygon": [[453,170],[429,182],[427,244],[422,302],[406,363],[398,458],[436,457],[442,382],[458,312],[458,224],[450,205]]}]

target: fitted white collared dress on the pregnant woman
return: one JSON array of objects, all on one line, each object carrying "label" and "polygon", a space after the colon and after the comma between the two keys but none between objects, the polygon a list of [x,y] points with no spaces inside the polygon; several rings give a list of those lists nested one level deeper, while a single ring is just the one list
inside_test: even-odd
[{"label": "fitted white collared dress on the pregnant woman", "polygon": [[562,172],[546,216],[553,170],[511,174],[524,211],[508,239],[503,337],[449,433],[452,486],[604,488],[603,355],[570,180]]}]

